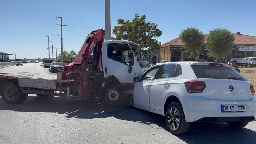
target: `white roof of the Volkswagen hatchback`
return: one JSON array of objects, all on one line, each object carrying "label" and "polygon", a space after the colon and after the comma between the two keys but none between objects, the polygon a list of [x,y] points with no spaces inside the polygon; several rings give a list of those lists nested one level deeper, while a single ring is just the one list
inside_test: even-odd
[{"label": "white roof of the Volkswagen hatchback", "polygon": [[225,64],[225,63],[216,63],[216,62],[190,62],[190,61],[186,61],[186,62],[165,62],[165,63],[158,63],[154,66],[159,66],[159,65],[167,65],[167,64],[185,64],[185,65],[209,65],[209,64],[212,64],[212,65],[220,65],[222,64],[223,66],[225,67],[230,67],[230,68],[234,68],[233,66],[231,65],[228,65],[228,64]]}]

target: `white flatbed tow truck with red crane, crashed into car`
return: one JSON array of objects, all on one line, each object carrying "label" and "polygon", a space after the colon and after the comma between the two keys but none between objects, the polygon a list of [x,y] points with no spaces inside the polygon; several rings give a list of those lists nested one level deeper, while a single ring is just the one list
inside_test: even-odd
[{"label": "white flatbed tow truck with red crane, crashed into car", "polygon": [[58,74],[0,73],[1,97],[8,104],[38,96],[100,97],[101,102],[117,106],[133,94],[133,78],[151,65],[146,52],[129,40],[104,42],[104,30],[88,34],[75,61]]}]

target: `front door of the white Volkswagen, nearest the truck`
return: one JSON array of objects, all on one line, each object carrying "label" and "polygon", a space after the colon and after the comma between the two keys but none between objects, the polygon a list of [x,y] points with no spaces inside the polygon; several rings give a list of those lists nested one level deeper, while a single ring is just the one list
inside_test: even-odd
[{"label": "front door of the white Volkswagen, nearest the truck", "polygon": [[133,90],[133,100],[135,106],[149,108],[150,85],[155,78],[160,66],[152,67],[147,70],[136,82]]}]

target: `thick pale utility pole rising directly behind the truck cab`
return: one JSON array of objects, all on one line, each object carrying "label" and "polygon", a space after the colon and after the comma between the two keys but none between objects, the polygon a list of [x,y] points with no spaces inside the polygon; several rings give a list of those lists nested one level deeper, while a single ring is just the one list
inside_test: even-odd
[{"label": "thick pale utility pole rising directly behind the truck cab", "polygon": [[105,0],[105,32],[105,39],[111,40],[110,0]]}]

